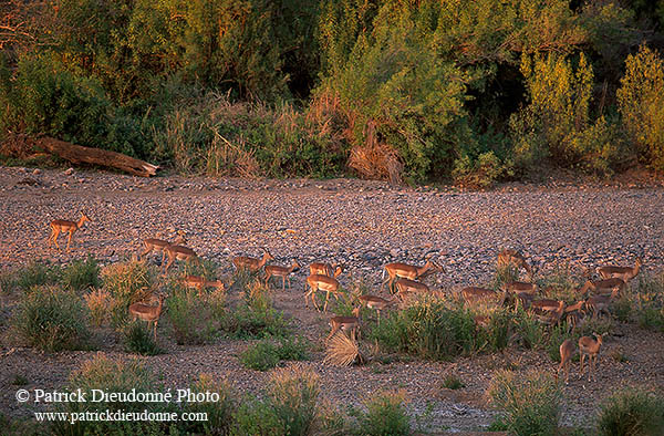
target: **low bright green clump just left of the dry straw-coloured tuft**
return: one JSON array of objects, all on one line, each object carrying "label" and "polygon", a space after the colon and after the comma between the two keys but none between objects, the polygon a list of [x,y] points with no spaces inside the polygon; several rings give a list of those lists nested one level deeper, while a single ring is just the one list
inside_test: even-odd
[{"label": "low bright green clump just left of the dry straw-coloured tuft", "polygon": [[279,344],[262,340],[240,354],[240,362],[250,370],[268,371],[283,361],[308,360],[308,349],[309,345],[302,339],[281,339]]}]

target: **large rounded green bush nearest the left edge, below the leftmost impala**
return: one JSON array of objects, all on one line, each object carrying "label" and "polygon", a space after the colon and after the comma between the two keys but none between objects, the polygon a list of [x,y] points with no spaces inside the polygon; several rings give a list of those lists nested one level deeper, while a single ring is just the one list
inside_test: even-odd
[{"label": "large rounded green bush nearest the left edge, below the leftmost impala", "polygon": [[12,325],[28,344],[45,351],[80,350],[90,338],[81,298],[56,287],[41,287],[25,294]]}]

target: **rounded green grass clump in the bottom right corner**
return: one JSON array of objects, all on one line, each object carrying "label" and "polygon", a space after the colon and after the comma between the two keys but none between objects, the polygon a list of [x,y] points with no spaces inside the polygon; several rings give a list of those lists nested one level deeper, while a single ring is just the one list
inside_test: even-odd
[{"label": "rounded green grass clump in the bottom right corner", "polygon": [[611,396],[598,417],[601,436],[655,436],[664,434],[664,397],[640,390]]}]

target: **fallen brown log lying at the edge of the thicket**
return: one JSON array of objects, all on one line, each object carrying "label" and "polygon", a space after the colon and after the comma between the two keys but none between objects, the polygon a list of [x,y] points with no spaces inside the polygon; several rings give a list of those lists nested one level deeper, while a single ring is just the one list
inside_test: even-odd
[{"label": "fallen brown log lying at the edge of the thicket", "polygon": [[73,164],[92,164],[116,168],[135,176],[149,177],[157,174],[159,167],[147,162],[101,148],[83,147],[52,137],[37,139],[35,146]]}]

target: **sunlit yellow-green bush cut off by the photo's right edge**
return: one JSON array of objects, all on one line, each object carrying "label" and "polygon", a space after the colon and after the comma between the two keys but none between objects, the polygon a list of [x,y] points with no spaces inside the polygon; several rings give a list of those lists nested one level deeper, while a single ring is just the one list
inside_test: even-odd
[{"label": "sunlit yellow-green bush cut off by the photo's right edge", "polygon": [[664,61],[644,44],[625,66],[616,92],[623,124],[646,162],[664,169]]}]

